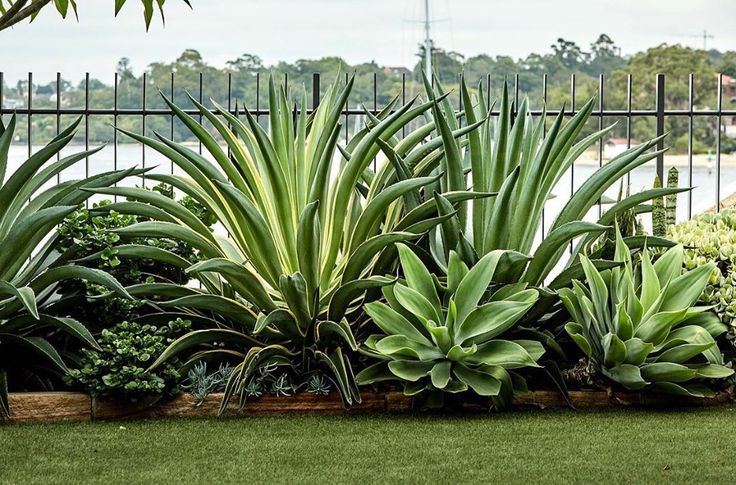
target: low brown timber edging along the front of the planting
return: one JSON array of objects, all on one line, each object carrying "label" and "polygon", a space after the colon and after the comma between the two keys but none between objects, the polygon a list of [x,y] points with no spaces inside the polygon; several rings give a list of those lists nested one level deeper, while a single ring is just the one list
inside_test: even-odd
[{"label": "low brown timber edging along the front of the planting", "polygon": [[[251,399],[242,409],[235,402],[225,415],[269,416],[289,414],[400,413],[412,409],[412,398],[400,392],[364,392],[363,402],[345,409],[337,394],[316,396],[300,393],[295,396],[263,396]],[[168,400],[115,401],[95,399],[75,392],[24,392],[10,394],[11,416],[0,423],[94,421],[144,419],[162,417],[217,416],[222,394],[216,393],[198,405],[190,394]],[[233,400],[235,401],[235,400]],[[732,402],[730,393],[721,392],[709,399],[687,398],[662,394],[617,391],[570,391],[570,401],[578,409],[619,406],[687,407],[718,406]],[[514,398],[521,408],[563,408],[565,399],[556,391],[530,391]],[[468,411],[487,408],[467,405]]]}]

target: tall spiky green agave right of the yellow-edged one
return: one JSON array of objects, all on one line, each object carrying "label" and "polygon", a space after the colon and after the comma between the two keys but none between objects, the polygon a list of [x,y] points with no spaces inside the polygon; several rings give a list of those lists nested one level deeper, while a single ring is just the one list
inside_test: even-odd
[{"label": "tall spiky green agave right of the yellow-edged one", "polygon": [[[659,153],[650,151],[659,138],[647,141],[614,157],[598,169],[570,197],[555,220],[548,225],[544,240],[536,241],[542,234],[542,218],[545,203],[553,197],[553,189],[573,163],[594,143],[612,129],[597,131],[578,140],[593,111],[594,100],[585,103],[580,110],[565,121],[564,109],[547,126],[543,113],[535,119],[530,114],[528,100],[513,106],[504,84],[499,113],[489,117],[482,86],[473,95],[465,82],[460,83],[460,96],[465,106],[463,114],[469,129],[465,136],[453,136],[459,128],[457,114],[446,98],[439,82],[435,91],[425,79],[426,89],[437,102],[433,105],[434,124],[440,138],[442,151],[436,156],[441,161],[435,172],[442,170],[442,191],[452,193],[472,185],[478,197],[458,207],[457,216],[434,230],[429,238],[430,251],[441,268],[445,268],[450,250],[456,251],[467,264],[490,251],[506,249],[514,251],[516,259],[530,255],[529,264],[519,264],[517,274],[510,274],[514,281],[540,286],[550,283],[548,277],[566,253],[571,241],[580,239],[572,256],[565,261],[570,268],[555,281],[555,286],[568,284],[572,276],[580,275],[577,255],[588,248],[606,229],[613,225],[618,214],[640,206],[645,201],[688,190],[686,188],[658,188],[646,190],[619,200],[606,210],[597,223],[584,218],[609,187],[636,167],[655,158]],[[477,129],[476,129],[477,127]],[[426,130],[420,128],[418,131]],[[418,133],[422,134],[422,133]],[[409,138],[409,137],[407,137]],[[417,146],[403,160],[386,149],[396,163],[384,167],[382,177],[395,177],[398,163],[416,175],[432,168],[427,162],[425,145]],[[469,171],[467,169],[470,169]],[[468,176],[469,174],[469,176]],[[483,196],[497,194],[495,197]],[[445,209],[447,213],[449,208]],[[511,224],[510,221],[519,221]],[[400,227],[400,226],[399,226]],[[633,240],[629,241],[633,245]],[[662,243],[659,239],[650,244]],[[597,266],[603,261],[594,261]]]}]

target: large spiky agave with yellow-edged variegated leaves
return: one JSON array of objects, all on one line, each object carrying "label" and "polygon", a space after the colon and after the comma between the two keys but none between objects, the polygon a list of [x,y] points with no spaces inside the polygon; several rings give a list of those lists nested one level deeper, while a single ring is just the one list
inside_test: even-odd
[{"label": "large spiky agave with yellow-edged variegated leaves", "polygon": [[[247,110],[241,119],[216,103],[216,111],[211,112],[192,99],[227,149],[166,99],[214,163],[163,137],[125,132],[170,158],[187,174],[147,177],[170,184],[201,203],[217,218],[222,232],[210,231],[186,210],[150,191],[98,191],[131,201],[113,204],[119,212],[155,219],[117,231],[121,236],[169,237],[199,250],[203,260],[188,272],[199,278],[204,291],[167,287],[167,295],[178,298],[158,304],[214,312],[228,326],[192,332],[172,344],[154,365],[193,346],[202,350],[194,359],[213,355],[239,359],[223,406],[232,395],[240,395],[242,402],[254,372],[270,365],[293,366],[305,377],[321,367],[345,404],[359,401],[350,361],[344,355],[345,349],[356,348],[356,342],[344,317],[366,290],[392,281],[375,270],[383,267],[381,255],[386,248],[397,241],[418,239],[449,217],[438,216],[432,202],[399,217],[401,230],[392,229],[384,223],[387,212],[395,215],[394,208],[403,197],[416,195],[439,175],[385,181],[369,170],[379,152],[377,140],[391,139],[433,103],[409,103],[393,110],[394,100],[342,149],[338,164],[340,117],[351,87],[352,81],[343,89],[331,88],[319,107],[307,115],[306,110],[292,110],[284,90],[271,81],[268,132]],[[448,195],[453,201],[472,196],[467,191]],[[155,293],[161,287],[149,288]],[[227,354],[221,347],[211,347],[223,341],[232,344]],[[202,344],[210,347],[202,348]]]}]

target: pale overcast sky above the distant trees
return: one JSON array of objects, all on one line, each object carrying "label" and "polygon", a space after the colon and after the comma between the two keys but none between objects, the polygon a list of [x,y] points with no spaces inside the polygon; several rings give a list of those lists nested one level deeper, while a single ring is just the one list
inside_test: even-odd
[{"label": "pale overcast sky above the distant trees", "polygon": [[[9,83],[34,72],[34,81],[79,80],[89,71],[111,82],[129,57],[137,73],[182,50],[199,50],[211,64],[243,53],[267,64],[341,56],[412,65],[423,37],[423,0],[180,0],[166,2],[166,26],[146,33],[142,7],[129,0],[120,17],[113,0],[78,0],[79,22],[49,9],[30,25],[0,33],[0,71]],[[546,52],[558,37],[587,48],[605,32],[630,54],[662,42],[736,50],[736,0],[432,0],[436,45],[466,56],[524,57]],[[701,35],[700,38],[693,37]]]}]

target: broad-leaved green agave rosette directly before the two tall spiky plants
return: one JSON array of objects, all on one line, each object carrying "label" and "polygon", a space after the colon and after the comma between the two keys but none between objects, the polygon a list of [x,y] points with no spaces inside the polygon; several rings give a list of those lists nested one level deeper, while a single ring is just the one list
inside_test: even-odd
[{"label": "broad-leaved green agave rosette directly before the two tall spiky plants", "polygon": [[470,270],[450,252],[446,282],[438,284],[407,246],[397,246],[405,282],[384,288],[388,304],[366,305],[383,334],[371,335],[364,352],[381,361],[360,372],[358,383],[399,380],[407,395],[472,389],[499,407],[509,405],[526,387],[514,370],[539,367],[544,347],[499,337],[534,305],[537,290],[491,285],[503,250],[489,252]]}]

